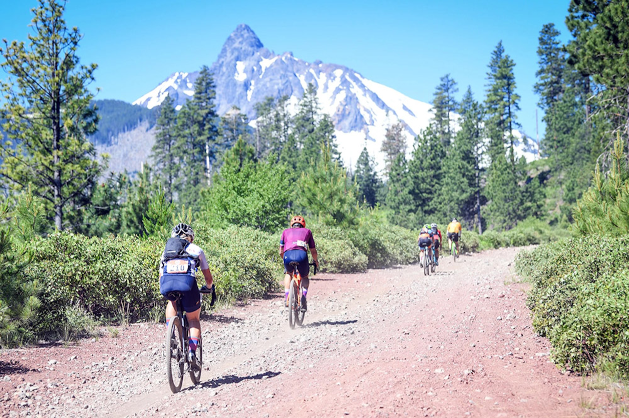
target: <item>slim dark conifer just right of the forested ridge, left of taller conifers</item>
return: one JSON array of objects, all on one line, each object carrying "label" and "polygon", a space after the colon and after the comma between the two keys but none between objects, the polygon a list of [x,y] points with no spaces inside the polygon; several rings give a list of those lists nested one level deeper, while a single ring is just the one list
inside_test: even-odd
[{"label": "slim dark conifer just right of the forested ridge, left of taller conifers", "polygon": [[177,144],[177,113],[174,100],[166,96],[160,105],[159,117],[155,124],[155,144],[151,149],[151,158],[155,161],[155,168],[163,178],[165,198],[172,203],[175,179],[179,174],[179,161],[175,154]]}]

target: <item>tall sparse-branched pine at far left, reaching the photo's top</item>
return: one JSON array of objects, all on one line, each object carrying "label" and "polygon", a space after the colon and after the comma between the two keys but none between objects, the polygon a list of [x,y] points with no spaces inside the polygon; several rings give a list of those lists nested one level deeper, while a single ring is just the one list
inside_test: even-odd
[{"label": "tall sparse-branched pine at far left, reaching the photo's top", "polygon": [[65,216],[89,202],[102,169],[86,139],[96,131],[87,86],[97,66],[79,63],[81,34],[67,28],[64,4],[39,0],[33,12],[28,48],[17,41],[4,41],[0,48],[1,67],[9,75],[0,82],[5,97],[0,121],[8,136],[0,147],[0,177],[14,191],[32,184],[60,230]]}]

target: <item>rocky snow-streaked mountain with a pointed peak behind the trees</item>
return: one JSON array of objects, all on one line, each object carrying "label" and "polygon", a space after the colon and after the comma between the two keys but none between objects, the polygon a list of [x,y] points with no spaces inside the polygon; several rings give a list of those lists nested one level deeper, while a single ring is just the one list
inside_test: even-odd
[{"label": "rocky snow-streaked mountain with a pointed peak behind the trees", "polygon": [[[335,124],[338,149],[346,166],[353,167],[364,145],[382,168],[380,151],[387,127],[403,122],[408,134],[408,152],[413,137],[428,126],[431,105],[373,82],[351,68],[308,63],[285,52],[268,50],[246,24],[231,33],[211,66],[216,83],[216,107],[225,114],[237,105],[250,120],[256,103],[266,97],[290,97],[294,106],[312,83],[321,110]],[[133,104],[149,109],[160,105],[167,95],[181,107],[194,93],[198,72],[176,72]],[[255,124],[255,121],[252,122]]]}]

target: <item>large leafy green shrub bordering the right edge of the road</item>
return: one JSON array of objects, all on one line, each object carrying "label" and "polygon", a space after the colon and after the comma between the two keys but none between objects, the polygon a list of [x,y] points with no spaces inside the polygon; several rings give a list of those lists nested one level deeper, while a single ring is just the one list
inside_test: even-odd
[{"label": "large leafy green shrub bordering the right edge of the road", "polygon": [[628,235],[591,235],[516,257],[516,271],[533,285],[533,326],[552,343],[558,365],[629,377],[628,244]]}]

